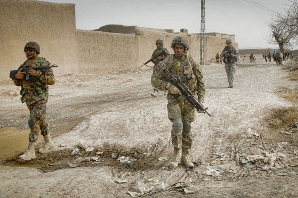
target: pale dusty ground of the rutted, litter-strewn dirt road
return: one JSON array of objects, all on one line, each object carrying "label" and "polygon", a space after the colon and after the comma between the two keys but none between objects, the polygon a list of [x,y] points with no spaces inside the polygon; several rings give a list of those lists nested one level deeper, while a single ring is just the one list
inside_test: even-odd
[{"label": "pale dusty ground of the rutted, litter-strewn dirt road", "polygon": [[[151,71],[57,76],[47,104],[47,121],[56,147],[46,154],[37,153],[36,159],[29,162],[17,159],[20,150],[6,157],[0,166],[0,197],[131,197],[128,191],[139,192],[138,182],[145,179],[155,178],[172,185],[184,177],[192,178],[199,191],[185,195],[181,188],[166,188],[144,196],[297,197],[297,175],[273,176],[298,172],[298,160],[292,158],[298,153],[297,132],[287,135],[273,131],[266,122],[272,116],[272,108],[292,105],[276,92],[282,92],[282,87],[296,88],[296,82],[286,78],[287,71],[281,66],[265,63],[264,59],[258,59],[257,64],[237,65],[232,89],[227,88],[224,65],[214,63],[202,69],[205,106],[212,117],[197,114],[192,123],[191,156],[193,161],[202,163],[195,170],[186,172],[183,165],[176,170],[164,169],[173,153],[171,123],[163,93],[157,98],[150,96]],[[7,131],[22,136],[29,133],[29,115],[20,102],[19,88],[10,81],[0,84],[0,133],[6,132],[3,143],[18,136],[9,136]],[[259,136],[248,138],[248,128]],[[80,140],[96,149],[80,149],[77,155],[71,155]],[[287,145],[281,148],[279,142]],[[27,139],[14,143],[25,144],[21,149],[28,144]],[[61,144],[67,146],[60,147]],[[41,143],[37,149],[40,146]],[[0,144],[1,150],[10,150],[9,146],[2,147]],[[78,157],[95,156],[98,149],[102,151],[98,154],[100,161],[73,163],[79,165],[75,168],[68,165]],[[265,151],[287,157],[275,160],[269,170],[262,170],[266,167],[263,161],[242,163],[249,155],[265,157]],[[212,179],[202,173],[216,158],[214,152],[224,153],[222,164],[229,164],[229,172]],[[112,158],[112,153],[117,157]],[[120,163],[117,158],[121,156],[136,162]],[[160,157],[168,160],[159,161]],[[128,183],[117,183],[117,179],[127,179]]]}]

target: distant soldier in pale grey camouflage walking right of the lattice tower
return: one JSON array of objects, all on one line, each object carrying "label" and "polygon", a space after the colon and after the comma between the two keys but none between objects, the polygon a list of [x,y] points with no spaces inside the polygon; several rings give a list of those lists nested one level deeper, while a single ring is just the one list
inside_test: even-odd
[{"label": "distant soldier in pale grey camouflage walking right of the lattice tower", "polygon": [[226,39],[227,46],[224,47],[220,57],[224,58],[224,68],[226,70],[229,82],[229,88],[233,88],[235,74],[235,60],[238,57],[237,50],[232,46],[232,40]]}]

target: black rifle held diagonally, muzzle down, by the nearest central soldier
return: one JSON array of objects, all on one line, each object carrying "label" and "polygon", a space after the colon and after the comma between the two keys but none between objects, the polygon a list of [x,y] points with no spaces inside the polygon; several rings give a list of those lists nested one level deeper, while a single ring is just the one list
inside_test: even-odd
[{"label": "black rifle held diagonally, muzzle down, by the nearest central soldier", "polygon": [[[196,98],[192,94],[192,91],[182,82],[182,80],[180,79],[180,77],[177,77],[176,78],[165,67],[162,68],[160,70],[160,72],[163,75],[165,75],[165,77],[167,79],[169,79],[169,82],[170,83],[172,83],[173,85],[175,85],[179,89],[179,91],[181,92],[182,96],[185,97],[190,102],[190,104],[192,104],[192,106],[196,108],[196,110],[202,111],[204,114],[206,113],[206,114],[208,114],[211,117],[211,115],[206,111],[208,109],[208,107],[205,108],[205,109],[203,109],[202,105],[196,100]],[[199,97],[199,94],[198,93],[196,93],[196,94]]]}]

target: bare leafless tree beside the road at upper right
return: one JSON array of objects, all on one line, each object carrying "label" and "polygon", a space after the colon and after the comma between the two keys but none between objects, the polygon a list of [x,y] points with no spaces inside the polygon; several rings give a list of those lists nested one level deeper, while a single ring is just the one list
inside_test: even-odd
[{"label": "bare leafless tree beside the road at upper right", "polygon": [[266,40],[268,43],[278,44],[280,52],[283,52],[285,47],[292,48],[297,45],[296,28],[292,26],[289,15],[277,14],[267,25],[270,29],[270,36],[267,36]]}]

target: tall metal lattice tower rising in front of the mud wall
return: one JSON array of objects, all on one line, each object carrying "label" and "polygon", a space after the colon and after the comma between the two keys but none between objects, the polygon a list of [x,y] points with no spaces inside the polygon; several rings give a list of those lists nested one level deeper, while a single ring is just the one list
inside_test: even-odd
[{"label": "tall metal lattice tower rising in front of the mud wall", "polygon": [[205,0],[201,0],[201,48],[200,48],[200,64],[205,65],[206,62],[206,32],[205,32]]}]

